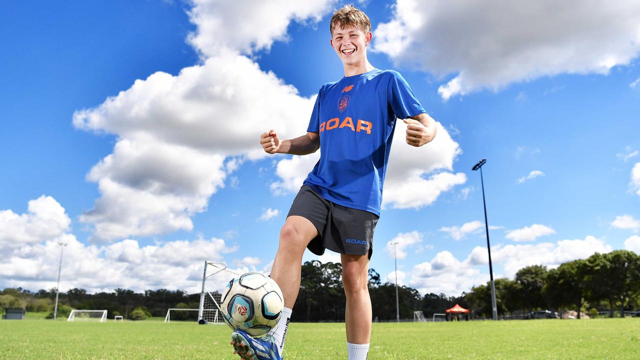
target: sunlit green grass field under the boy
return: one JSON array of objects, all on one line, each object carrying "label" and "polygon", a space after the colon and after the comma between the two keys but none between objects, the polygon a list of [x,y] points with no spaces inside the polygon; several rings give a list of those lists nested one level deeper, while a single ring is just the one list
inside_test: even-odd
[{"label": "sunlit green grass field under the boy", "polygon": [[[224,325],[0,320],[0,359],[239,359]],[[285,359],[346,359],[344,324],[292,323]],[[640,319],[374,323],[369,360],[640,359]]]}]

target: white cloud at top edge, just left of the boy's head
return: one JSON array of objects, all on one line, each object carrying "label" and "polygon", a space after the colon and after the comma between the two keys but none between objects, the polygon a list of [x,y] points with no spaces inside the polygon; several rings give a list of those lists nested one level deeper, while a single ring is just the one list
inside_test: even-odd
[{"label": "white cloud at top edge, just left of the boy's head", "polygon": [[[252,54],[269,49],[275,41],[287,41],[287,27],[292,20],[303,24],[319,22],[330,12],[335,0],[193,0],[192,3],[189,18],[197,29],[188,41],[205,57],[212,57],[224,49]],[[328,29],[326,33],[329,37]]]}]

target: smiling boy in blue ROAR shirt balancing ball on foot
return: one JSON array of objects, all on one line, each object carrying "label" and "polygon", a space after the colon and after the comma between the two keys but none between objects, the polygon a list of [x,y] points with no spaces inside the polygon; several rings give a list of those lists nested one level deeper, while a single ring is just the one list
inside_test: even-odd
[{"label": "smiling boy in blue ROAR shirt balancing ball on foot", "polygon": [[271,278],[284,295],[282,318],[268,338],[253,339],[243,331],[232,334],[231,343],[242,359],[282,359],[305,248],[318,255],[325,249],[340,253],[349,360],[367,358],[372,317],[369,259],[396,118],[407,124],[409,145],[422,146],[436,135],[435,121],[400,74],[378,70],[367,60],[372,34],[364,12],[342,7],[333,14],[330,30],[344,78],[320,89],[307,135],[281,141],[270,130],[260,136],[269,154],[322,150],[280,231]]}]

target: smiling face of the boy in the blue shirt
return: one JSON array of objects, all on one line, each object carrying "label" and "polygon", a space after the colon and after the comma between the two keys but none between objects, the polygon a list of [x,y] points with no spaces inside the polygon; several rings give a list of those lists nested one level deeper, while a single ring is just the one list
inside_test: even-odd
[{"label": "smiling face of the boy in the blue shirt", "polygon": [[331,45],[344,65],[356,65],[366,58],[371,37],[371,31],[364,33],[355,26],[342,29],[337,24],[333,28]]}]

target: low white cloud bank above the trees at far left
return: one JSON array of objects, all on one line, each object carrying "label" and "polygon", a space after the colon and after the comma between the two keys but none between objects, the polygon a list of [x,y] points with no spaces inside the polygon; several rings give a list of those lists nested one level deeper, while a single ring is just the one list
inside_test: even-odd
[{"label": "low white cloud bank above the trees at far left", "polygon": [[[0,235],[0,284],[29,290],[56,286],[61,247],[63,266],[60,289],[83,288],[90,292],[128,288],[142,291],[168,288],[199,291],[203,260],[223,261],[237,250],[218,238],[167,241],[140,245],[125,239],[108,245],[87,245],[70,233],[65,210],[52,197],[29,202],[29,213],[0,211],[2,226],[11,234]],[[5,215],[12,215],[5,222]],[[23,221],[25,220],[26,221]],[[10,227],[4,225],[9,224]],[[222,288],[227,276],[212,277],[210,288]]]}]

